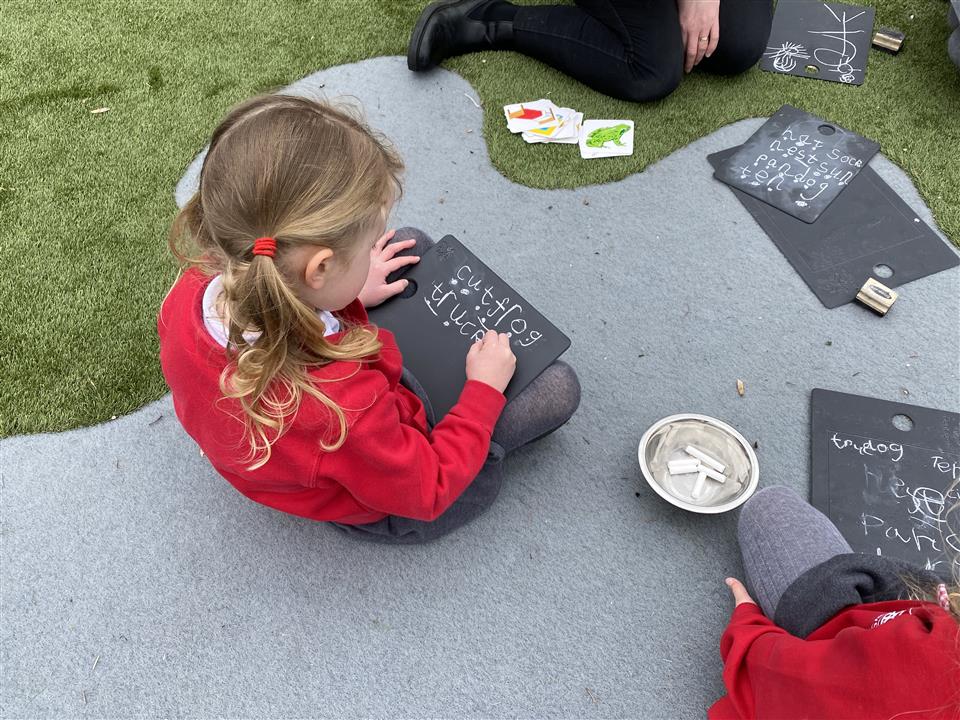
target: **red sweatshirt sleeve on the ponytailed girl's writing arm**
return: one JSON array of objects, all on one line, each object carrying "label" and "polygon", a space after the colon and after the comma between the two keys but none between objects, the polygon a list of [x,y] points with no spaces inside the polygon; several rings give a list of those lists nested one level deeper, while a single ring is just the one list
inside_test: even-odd
[{"label": "red sweatshirt sleeve on the ponytailed girl's writing arm", "polygon": [[427,435],[401,422],[399,402],[396,393],[381,388],[343,446],[323,458],[319,475],[373,510],[434,520],[483,467],[506,398],[468,380],[457,404]]}]

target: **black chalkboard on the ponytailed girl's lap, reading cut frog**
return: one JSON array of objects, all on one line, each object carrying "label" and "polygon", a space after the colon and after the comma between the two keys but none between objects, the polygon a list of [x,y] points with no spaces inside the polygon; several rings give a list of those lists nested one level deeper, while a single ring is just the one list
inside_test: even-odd
[{"label": "black chalkboard on the ponytailed girl's lap, reading cut frog", "polygon": [[404,296],[369,315],[396,336],[403,364],[423,386],[437,420],[460,397],[467,351],[487,330],[511,335],[517,369],[507,399],[570,347],[566,335],[453,235],[425,252],[403,277],[411,281]]}]

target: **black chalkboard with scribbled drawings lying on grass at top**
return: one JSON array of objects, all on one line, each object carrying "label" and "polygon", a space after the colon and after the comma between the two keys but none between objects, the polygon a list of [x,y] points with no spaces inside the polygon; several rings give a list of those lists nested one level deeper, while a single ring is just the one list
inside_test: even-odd
[{"label": "black chalkboard with scribbled drawings lying on grass at top", "polygon": [[873,39],[872,7],[779,0],[760,68],[862,85]]}]

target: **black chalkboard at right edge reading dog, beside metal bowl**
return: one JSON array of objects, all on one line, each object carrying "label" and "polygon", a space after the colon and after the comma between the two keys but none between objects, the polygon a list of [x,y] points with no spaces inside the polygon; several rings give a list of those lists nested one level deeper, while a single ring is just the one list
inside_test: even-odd
[{"label": "black chalkboard at right edge reading dog, beside metal bowl", "polygon": [[853,550],[960,569],[960,414],[821,389],[810,414],[810,501]]}]

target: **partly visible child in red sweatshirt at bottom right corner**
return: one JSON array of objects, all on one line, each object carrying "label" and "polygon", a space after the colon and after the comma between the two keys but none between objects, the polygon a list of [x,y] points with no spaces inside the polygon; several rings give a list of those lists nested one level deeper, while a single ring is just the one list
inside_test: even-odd
[{"label": "partly visible child in red sweatshirt at bottom right corner", "polygon": [[747,501],[739,541],[759,606],[727,578],[728,694],[710,718],[960,717],[960,592],[908,563],[854,553],[783,487]]}]

